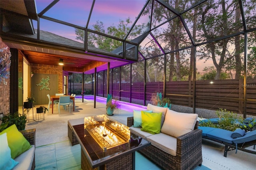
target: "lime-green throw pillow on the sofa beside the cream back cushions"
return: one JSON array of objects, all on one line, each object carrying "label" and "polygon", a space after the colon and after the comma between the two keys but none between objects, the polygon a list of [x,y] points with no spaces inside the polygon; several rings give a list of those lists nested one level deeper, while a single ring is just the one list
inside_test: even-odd
[{"label": "lime-green throw pillow on the sofa beside the cream back cushions", "polygon": [[141,112],[142,128],[141,130],[151,134],[160,133],[162,113]]}]

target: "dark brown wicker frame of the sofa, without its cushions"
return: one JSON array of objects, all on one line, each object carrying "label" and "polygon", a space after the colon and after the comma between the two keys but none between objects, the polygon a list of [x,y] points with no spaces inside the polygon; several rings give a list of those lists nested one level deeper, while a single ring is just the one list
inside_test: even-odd
[{"label": "dark brown wicker frame of the sofa, without its cushions", "polygon": [[[127,118],[127,126],[133,125],[133,117]],[[202,165],[202,130],[198,121],[192,132],[177,138],[176,156],[150,145],[139,150],[144,156],[166,170],[190,170]]]}]

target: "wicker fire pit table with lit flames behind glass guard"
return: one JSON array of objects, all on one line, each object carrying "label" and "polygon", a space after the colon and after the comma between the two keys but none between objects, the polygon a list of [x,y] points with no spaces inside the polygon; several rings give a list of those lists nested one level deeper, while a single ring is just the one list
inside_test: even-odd
[{"label": "wicker fire pit table with lit flames behind glass guard", "polygon": [[131,134],[125,125],[110,119],[103,121],[97,117],[86,117],[84,124],[74,125],[72,129],[81,146],[83,170],[134,170],[135,151],[151,144]]}]

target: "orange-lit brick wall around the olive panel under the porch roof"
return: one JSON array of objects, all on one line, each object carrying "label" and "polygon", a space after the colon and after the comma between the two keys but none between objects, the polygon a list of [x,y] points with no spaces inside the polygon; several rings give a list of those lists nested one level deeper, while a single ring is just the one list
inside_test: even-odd
[{"label": "orange-lit brick wall around the olive panel under the porch roof", "polygon": [[63,93],[63,71],[62,66],[31,63],[31,70],[38,74],[58,75],[58,93]]}]

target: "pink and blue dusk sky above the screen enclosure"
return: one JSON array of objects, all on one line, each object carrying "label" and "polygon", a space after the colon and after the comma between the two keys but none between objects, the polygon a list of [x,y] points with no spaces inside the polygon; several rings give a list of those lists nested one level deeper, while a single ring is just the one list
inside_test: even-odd
[{"label": "pink and blue dusk sky above the screen enclosure", "polygon": [[[44,10],[51,2],[52,0],[36,0],[37,13]],[[93,0],[60,0],[44,16],[85,27],[92,2]],[[103,22],[105,29],[113,25],[118,26],[120,20],[126,20],[128,17],[134,22],[145,3],[146,0],[96,0],[88,28],[92,29],[92,25],[96,24],[97,21]],[[147,23],[148,17],[144,16],[139,22]],[[36,21],[33,21],[33,25],[37,29]],[[40,19],[40,30],[78,41],[76,40],[75,29],[70,26]],[[198,71],[211,65],[213,65],[212,61],[206,63],[202,60],[197,61]]]}]

